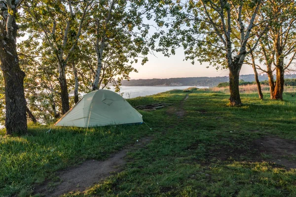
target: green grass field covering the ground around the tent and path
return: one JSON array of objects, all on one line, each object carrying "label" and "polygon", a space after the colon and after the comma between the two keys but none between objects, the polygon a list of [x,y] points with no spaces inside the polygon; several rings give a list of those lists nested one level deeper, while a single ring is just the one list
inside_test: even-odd
[{"label": "green grass field covering the ground around the tent and path", "polygon": [[30,125],[26,136],[4,137],[2,132],[0,196],[30,196],[35,185],[57,179],[57,170],[88,159],[106,160],[137,139],[153,136],[147,146],[128,153],[121,172],[65,196],[296,197],[296,169],[277,162],[293,165],[296,155],[285,150],[265,153],[258,143],[266,136],[294,143],[296,98],[285,93],[284,101],[259,100],[255,93],[241,97],[241,107],[228,106],[227,94],[210,90],[129,99],[133,106],[173,103],[140,110],[151,131],[146,125],[87,133]]}]

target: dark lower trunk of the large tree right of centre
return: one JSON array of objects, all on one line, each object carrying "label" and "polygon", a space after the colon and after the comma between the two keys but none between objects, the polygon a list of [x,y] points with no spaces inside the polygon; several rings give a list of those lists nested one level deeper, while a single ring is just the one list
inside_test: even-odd
[{"label": "dark lower trunk of the large tree right of centre", "polygon": [[231,68],[229,68],[229,90],[230,104],[232,106],[240,106],[242,102],[239,95],[239,72]]}]

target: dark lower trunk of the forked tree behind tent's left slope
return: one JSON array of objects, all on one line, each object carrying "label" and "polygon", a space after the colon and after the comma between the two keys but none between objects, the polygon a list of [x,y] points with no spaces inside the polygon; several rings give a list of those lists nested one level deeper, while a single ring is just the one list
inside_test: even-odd
[{"label": "dark lower trunk of the forked tree behind tent's left slope", "polygon": [[59,83],[61,87],[61,100],[62,100],[62,114],[64,115],[70,109],[68,86],[65,74],[65,66],[60,68]]}]

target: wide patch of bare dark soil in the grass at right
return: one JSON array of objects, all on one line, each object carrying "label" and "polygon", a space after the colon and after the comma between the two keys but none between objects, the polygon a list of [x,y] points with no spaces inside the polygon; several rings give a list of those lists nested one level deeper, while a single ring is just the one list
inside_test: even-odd
[{"label": "wide patch of bare dark soil in the grass at right", "polygon": [[[208,165],[213,162],[246,161],[246,162],[270,162],[282,165],[285,168],[296,168],[296,141],[282,139],[275,136],[264,136],[254,141],[233,141],[221,139],[231,143],[212,144],[207,147],[203,158],[196,162]],[[227,145],[225,145],[227,144]],[[187,147],[187,150],[199,149],[198,142]]]}]

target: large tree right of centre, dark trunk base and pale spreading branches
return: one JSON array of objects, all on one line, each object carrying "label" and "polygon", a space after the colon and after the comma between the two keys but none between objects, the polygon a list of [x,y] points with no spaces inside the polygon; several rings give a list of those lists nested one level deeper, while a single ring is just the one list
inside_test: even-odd
[{"label": "large tree right of centre, dark trunk base and pale spreading branches", "polygon": [[[173,5],[172,5],[173,4]],[[251,30],[257,17],[261,0],[189,0],[169,4],[169,14],[174,17],[169,22],[158,20],[160,27],[171,27],[169,33],[160,36],[159,45],[168,53],[183,45],[185,59],[197,57],[200,63],[229,69],[230,104],[241,105],[239,94],[239,73],[247,50]],[[160,16],[163,12],[160,12]],[[248,16],[251,16],[250,18]],[[160,17],[158,17],[160,18]],[[173,40],[173,41],[172,41]],[[251,48],[255,48],[256,42]],[[167,48],[171,47],[171,52]]]}]

